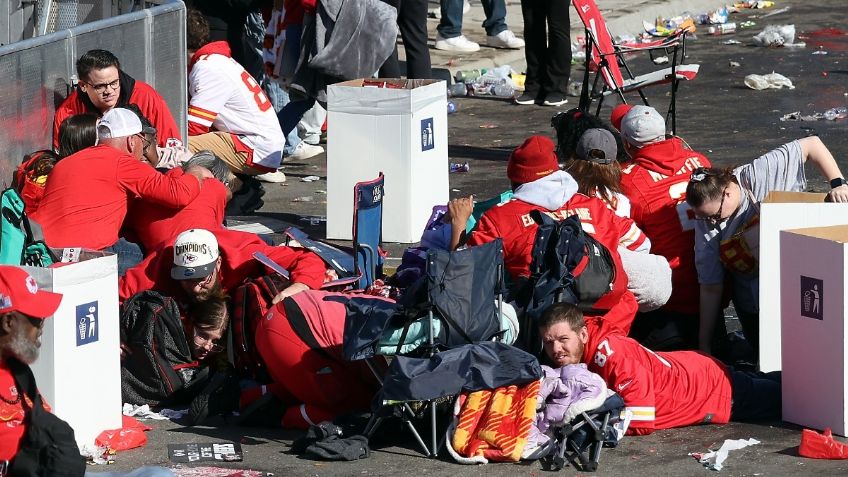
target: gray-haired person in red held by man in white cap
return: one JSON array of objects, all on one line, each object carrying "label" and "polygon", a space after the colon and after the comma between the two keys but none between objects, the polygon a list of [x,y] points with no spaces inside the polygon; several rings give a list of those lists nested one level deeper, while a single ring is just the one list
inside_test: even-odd
[{"label": "gray-haired person in red held by man in white cap", "polygon": [[233,191],[241,187],[241,182],[230,171],[226,162],[207,150],[196,152],[181,167],[175,167],[164,175],[179,178],[196,167],[209,170],[212,177],[203,181],[203,189],[191,204],[179,210],[169,210],[144,202],[133,205],[124,232],[141,245],[145,255],[185,230],[218,230],[223,227],[227,202],[232,198]]}]

